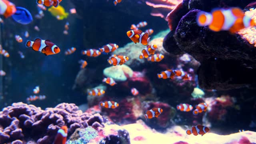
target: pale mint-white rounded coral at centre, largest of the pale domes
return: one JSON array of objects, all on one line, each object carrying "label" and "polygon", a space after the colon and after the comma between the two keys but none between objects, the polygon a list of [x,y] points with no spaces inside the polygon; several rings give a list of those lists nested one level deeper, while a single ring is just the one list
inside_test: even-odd
[{"label": "pale mint-white rounded coral at centre, largest of the pale domes", "polygon": [[123,64],[121,66],[110,66],[103,70],[103,74],[106,77],[113,78],[116,82],[126,81],[127,78],[132,77],[133,71],[132,69]]}]

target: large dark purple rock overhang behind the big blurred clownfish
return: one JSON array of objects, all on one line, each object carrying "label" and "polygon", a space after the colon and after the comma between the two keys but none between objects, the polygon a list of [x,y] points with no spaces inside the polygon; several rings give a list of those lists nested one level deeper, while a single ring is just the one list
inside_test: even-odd
[{"label": "large dark purple rock overhang behind the big blurred clownfish", "polygon": [[200,10],[211,11],[218,6],[244,8],[250,2],[184,0],[168,15],[172,31],[164,38],[164,48],[172,54],[187,52],[201,63],[198,70],[201,88],[227,90],[248,85],[254,87],[255,79],[249,76],[256,71],[254,46],[239,34],[213,32],[207,26],[200,27],[196,23]]}]

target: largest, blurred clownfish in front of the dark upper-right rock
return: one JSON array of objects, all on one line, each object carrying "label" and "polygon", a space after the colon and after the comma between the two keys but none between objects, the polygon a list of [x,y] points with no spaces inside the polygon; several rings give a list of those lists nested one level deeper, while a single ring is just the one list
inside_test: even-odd
[{"label": "largest, blurred clownfish in front of the dark upper-right rock", "polygon": [[211,13],[199,12],[196,20],[199,26],[208,26],[214,32],[228,30],[235,33],[243,28],[255,26],[252,17],[245,15],[240,8],[220,8]]}]

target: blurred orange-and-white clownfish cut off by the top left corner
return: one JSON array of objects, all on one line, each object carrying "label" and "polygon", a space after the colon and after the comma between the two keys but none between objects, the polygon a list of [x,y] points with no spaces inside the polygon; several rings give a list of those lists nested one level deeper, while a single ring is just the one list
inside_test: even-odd
[{"label": "blurred orange-and-white clownfish cut off by the top left corner", "polygon": [[0,0],[0,14],[3,15],[4,18],[12,16],[16,11],[16,6],[12,2],[9,2],[8,0]]}]

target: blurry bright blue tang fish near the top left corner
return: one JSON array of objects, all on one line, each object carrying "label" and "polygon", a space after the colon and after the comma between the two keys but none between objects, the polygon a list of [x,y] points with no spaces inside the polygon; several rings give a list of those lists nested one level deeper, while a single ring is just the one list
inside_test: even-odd
[{"label": "blurry bright blue tang fish near the top left corner", "polygon": [[26,8],[16,7],[16,9],[16,13],[12,15],[13,20],[20,24],[29,24],[32,22],[32,15]]}]

